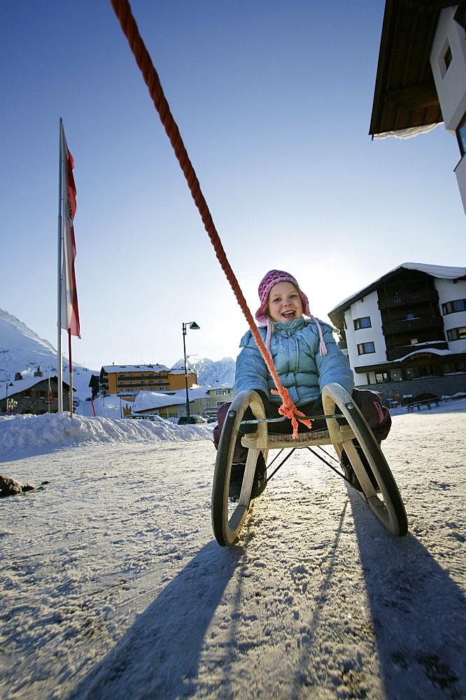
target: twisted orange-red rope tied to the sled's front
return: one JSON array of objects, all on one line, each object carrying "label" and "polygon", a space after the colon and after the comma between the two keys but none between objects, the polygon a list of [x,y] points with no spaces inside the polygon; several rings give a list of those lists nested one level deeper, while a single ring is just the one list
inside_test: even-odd
[{"label": "twisted orange-red rope tied to the sled's front", "polygon": [[[115,15],[117,15],[118,19],[120,20],[120,25],[129,42],[129,46],[132,52],[134,53],[136,63],[141,69],[143,78],[146,81],[146,85],[149,88],[150,97],[152,97],[153,99],[155,109],[157,109],[157,112],[159,113],[160,120],[164,125],[164,129],[167,132],[167,136],[170,139],[171,146],[173,146],[174,148],[176,158],[178,158],[178,162],[181,166],[181,169],[183,170],[185,178],[188,181],[188,186],[190,188],[192,198],[195,200],[197,209],[199,209],[199,214],[201,214],[201,218],[204,223],[206,232],[209,234],[209,238],[211,239],[213,249],[216,251],[218,262],[220,262],[223,272],[225,272],[227,280],[230,282],[230,286],[232,287],[236,300],[238,301],[239,306],[241,307],[241,311],[243,311],[243,314],[246,317],[246,321],[248,321],[249,323],[249,328],[253,333],[253,337],[255,339],[255,342],[257,343],[257,347],[259,348],[262,357],[264,358],[264,362],[266,363],[269,372],[272,378],[274,379],[277,391],[274,391],[273,393],[277,393],[281,396],[283,404],[278,409],[278,411],[283,416],[286,416],[287,418],[291,419],[293,426],[293,437],[296,437],[297,420],[295,418],[295,414],[297,414],[298,416],[304,416],[304,414],[297,410],[294,403],[290,399],[288,390],[284,386],[282,386],[281,381],[278,378],[276,369],[274,367],[274,362],[262,340],[260,332],[257,330],[257,326],[254,323],[253,316],[250,313],[250,310],[248,309],[248,304],[246,304],[246,299],[243,297],[243,293],[241,292],[241,288],[239,287],[239,283],[236,279],[236,276],[234,276],[234,272],[232,270],[232,267],[230,266],[230,262],[228,262],[227,260],[227,255],[225,254],[223,245],[220,241],[220,237],[213,223],[209,207],[207,206],[206,200],[204,200],[204,195],[202,194],[201,187],[199,185],[199,180],[197,179],[197,175],[195,173],[195,169],[192,167],[192,163],[188,156],[188,152],[186,151],[185,145],[183,144],[183,139],[181,138],[178,126],[176,125],[174,117],[171,114],[169,104],[162,90],[162,85],[160,85],[160,80],[159,76],[157,75],[157,71],[153,66],[152,59],[150,58],[148,50],[146,49],[146,45],[144,44],[141,35],[139,34],[139,29],[132,15],[129,2],[128,0],[111,0],[111,3],[113,5],[113,9],[115,10]],[[308,427],[311,427],[309,421],[302,422],[305,423]]]}]

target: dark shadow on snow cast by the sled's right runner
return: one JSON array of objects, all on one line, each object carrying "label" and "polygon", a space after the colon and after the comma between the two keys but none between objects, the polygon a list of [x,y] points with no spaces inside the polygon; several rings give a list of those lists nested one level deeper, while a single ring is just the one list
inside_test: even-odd
[{"label": "dark shadow on snow cast by the sled's right runner", "polygon": [[394,538],[350,502],[387,700],[466,697],[463,592],[414,535]]}]

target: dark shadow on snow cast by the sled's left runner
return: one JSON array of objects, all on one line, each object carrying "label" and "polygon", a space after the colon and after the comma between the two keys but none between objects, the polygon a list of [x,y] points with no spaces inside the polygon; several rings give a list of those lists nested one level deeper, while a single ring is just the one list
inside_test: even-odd
[{"label": "dark shadow on snow cast by the sled's left runner", "polygon": [[67,700],[174,700],[190,694],[204,637],[242,552],[211,541],[148,605]]}]

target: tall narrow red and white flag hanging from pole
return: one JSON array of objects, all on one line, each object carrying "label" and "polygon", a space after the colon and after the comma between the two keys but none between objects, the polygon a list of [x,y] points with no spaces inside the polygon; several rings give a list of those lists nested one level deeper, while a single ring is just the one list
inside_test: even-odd
[{"label": "tall narrow red and white flag hanging from pole", "polygon": [[74,240],[73,218],[76,212],[76,186],[73,178],[73,156],[66,146],[64,129],[62,127],[62,157],[64,162],[62,176],[63,197],[63,258],[62,258],[62,318],[61,328],[69,330],[71,335],[80,338],[78,292],[74,274],[74,258],[76,244]]}]

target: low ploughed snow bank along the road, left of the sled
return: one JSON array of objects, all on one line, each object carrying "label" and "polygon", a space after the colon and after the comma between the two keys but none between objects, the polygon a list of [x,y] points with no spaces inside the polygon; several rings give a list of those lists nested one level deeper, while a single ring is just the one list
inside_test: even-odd
[{"label": "low ploughed snow bank along the road, left of the sled", "polygon": [[176,426],[173,423],[129,419],[89,418],[67,413],[0,417],[1,451],[25,445],[66,445],[73,442],[185,442],[211,440],[213,424]]}]

